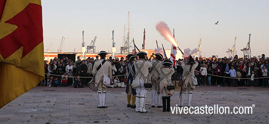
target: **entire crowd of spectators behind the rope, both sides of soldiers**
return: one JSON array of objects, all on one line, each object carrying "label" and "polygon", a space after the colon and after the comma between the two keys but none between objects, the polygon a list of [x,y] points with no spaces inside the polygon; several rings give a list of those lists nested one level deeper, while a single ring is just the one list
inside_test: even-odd
[{"label": "entire crowd of spectators behind the rope, both sides of soldiers", "polygon": [[[98,56],[95,59],[87,58],[86,60],[81,60],[78,56],[75,62],[67,57],[62,58],[62,60],[55,57],[50,62],[44,61],[45,73],[49,75],[45,74],[45,80],[40,82],[39,85],[85,87],[91,78],[83,77],[93,77],[92,69],[96,61],[99,61]],[[114,86],[117,86],[115,82],[121,83],[121,85],[122,82],[126,83],[128,60],[109,57],[107,61],[111,62]],[[176,61],[175,73],[171,77],[174,81],[182,78],[182,61],[183,59]],[[196,57],[195,61],[199,63],[195,69],[198,86],[269,86],[269,78],[267,78],[269,75],[269,58],[266,58],[264,54],[259,59],[256,57],[251,59],[238,58],[236,55],[234,58],[203,59]],[[256,79],[258,77],[264,78]],[[48,80],[49,82],[47,82]]]}]

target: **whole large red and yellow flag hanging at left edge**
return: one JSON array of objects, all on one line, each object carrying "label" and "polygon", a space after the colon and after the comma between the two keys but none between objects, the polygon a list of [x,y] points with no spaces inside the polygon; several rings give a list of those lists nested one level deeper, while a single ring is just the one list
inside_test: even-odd
[{"label": "whole large red and yellow flag hanging at left edge", "polygon": [[40,0],[0,0],[0,108],[44,79]]}]

